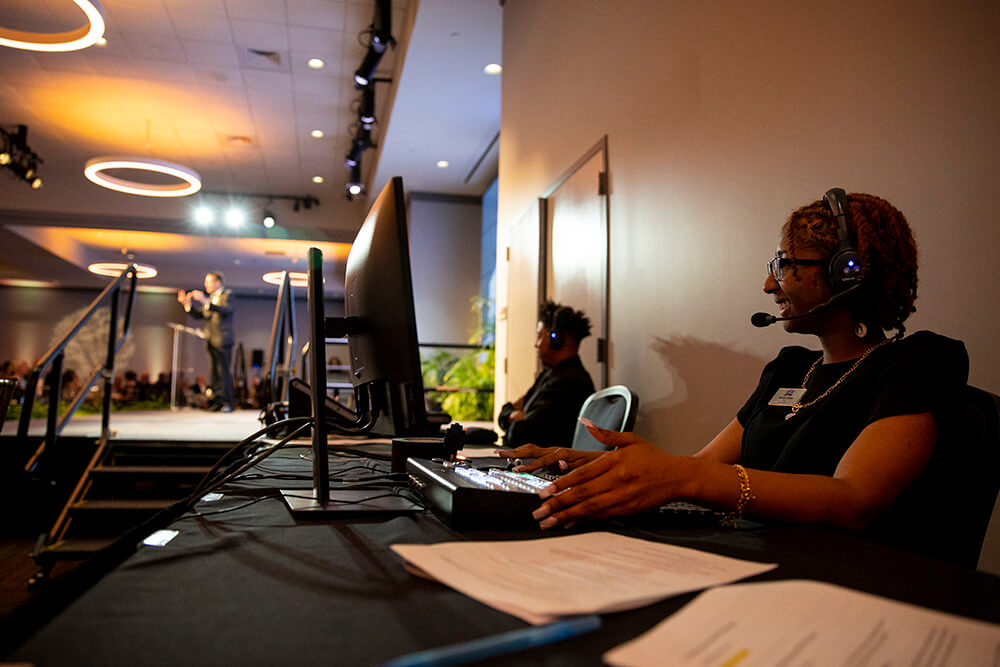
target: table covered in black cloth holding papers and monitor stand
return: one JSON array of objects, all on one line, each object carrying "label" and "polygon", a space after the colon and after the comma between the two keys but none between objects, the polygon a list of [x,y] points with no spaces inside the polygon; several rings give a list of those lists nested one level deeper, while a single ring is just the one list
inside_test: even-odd
[{"label": "table covered in black cloth holding papers and monitor stand", "polygon": [[[300,454],[283,451],[263,468],[306,473],[309,464]],[[304,479],[230,485],[225,498],[197,509],[239,509],[175,521],[176,539],[165,547],[140,547],[6,659],[41,666],[370,665],[526,627],[408,574],[389,547],[542,533],[457,533],[430,512],[296,521],[274,489],[308,486]],[[751,523],[737,530],[625,522],[594,527],[779,564],[753,581],[816,579],[1000,622],[1000,577],[835,531]],[[604,651],[693,597],[607,614],[596,633],[482,664],[600,664]]]}]

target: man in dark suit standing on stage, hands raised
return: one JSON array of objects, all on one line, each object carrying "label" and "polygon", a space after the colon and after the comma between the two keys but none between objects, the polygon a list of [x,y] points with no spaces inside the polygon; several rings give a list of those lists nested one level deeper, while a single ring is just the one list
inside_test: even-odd
[{"label": "man in dark suit standing on stage, hands raised", "polygon": [[233,296],[221,271],[205,274],[205,291],[177,292],[177,301],[191,317],[205,321],[205,343],[211,362],[209,410],[232,412],[235,408],[233,374]]}]

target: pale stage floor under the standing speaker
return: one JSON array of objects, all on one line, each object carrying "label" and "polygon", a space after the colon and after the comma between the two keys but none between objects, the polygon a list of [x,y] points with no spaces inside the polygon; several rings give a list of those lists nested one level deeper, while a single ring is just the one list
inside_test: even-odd
[{"label": "pale stage floor under the standing speaker", "polygon": [[[112,412],[110,426],[115,440],[156,440],[187,442],[239,442],[263,428],[260,410],[208,412],[193,408],[177,410],[125,410]],[[4,436],[17,434],[17,422],[7,420]],[[32,419],[28,435],[44,436],[45,420]],[[63,429],[62,436],[98,438],[101,415],[76,415]]]}]

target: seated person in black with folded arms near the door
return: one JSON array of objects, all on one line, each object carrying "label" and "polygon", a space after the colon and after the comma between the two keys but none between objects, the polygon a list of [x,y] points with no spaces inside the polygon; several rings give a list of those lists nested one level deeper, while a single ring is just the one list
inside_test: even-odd
[{"label": "seated person in black with folded arms near the door", "polygon": [[594,393],[579,355],[580,341],[589,335],[590,320],[581,311],[552,301],[539,307],[535,350],[544,370],[524,396],[500,409],[497,423],[507,446],[573,441],[580,408]]}]

